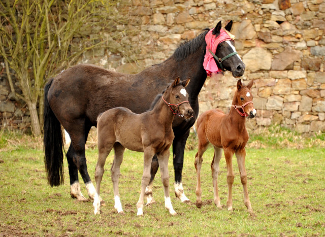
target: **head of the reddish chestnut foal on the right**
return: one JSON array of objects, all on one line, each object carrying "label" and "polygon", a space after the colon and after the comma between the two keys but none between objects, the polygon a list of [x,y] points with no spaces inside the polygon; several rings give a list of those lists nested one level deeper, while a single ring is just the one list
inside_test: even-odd
[{"label": "head of the reddish chestnut foal on the right", "polygon": [[[254,118],[256,115],[256,110],[254,109],[253,105],[253,96],[250,91],[253,85],[253,80],[251,80],[247,86],[243,85],[241,80],[237,81],[237,91],[234,97],[234,103],[239,108],[242,107],[243,112],[249,118]],[[237,99],[237,101],[236,101]]]}]

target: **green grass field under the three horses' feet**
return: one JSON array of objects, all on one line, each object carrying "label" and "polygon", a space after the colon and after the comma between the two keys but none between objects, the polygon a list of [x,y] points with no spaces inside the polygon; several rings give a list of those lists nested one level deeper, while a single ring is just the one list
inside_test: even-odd
[{"label": "green grass field under the three horses' feet", "polygon": [[[277,129],[277,128],[276,128]],[[277,135],[275,135],[277,134]],[[317,137],[318,136],[318,137]],[[68,165],[64,159],[64,185],[47,185],[41,139],[2,132],[0,139],[0,236],[55,235],[145,235],[145,236],[313,236],[325,234],[325,149],[324,136],[304,139],[290,131],[264,131],[251,136],[246,149],[248,191],[253,214],[243,203],[236,158],[233,212],[225,208],[227,184],[224,158],[220,161],[219,194],[222,210],[213,204],[210,163],[212,148],[205,153],[202,167],[203,206],[195,206],[195,137],[185,151],[183,187],[191,204],[174,196],[174,170],[169,160],[170,192],[176,216],[164,208],[164,192],[157,173],[155,204],[144,207],[137,217],[142,153],[126,151],[121,165],[120,194],[125,215],[114,209],[110,165],[107,158],[101,196],[106,201],[100,216],[93,215],[92,202],[70,197]],[[90,139],[86,151],[88,171],[94,176],[98,155]],[[193,150],[190,150],[194,148]],[[172,157],[172,156],[171,156]],[[86,190],[81,182],[82,192]]]}]

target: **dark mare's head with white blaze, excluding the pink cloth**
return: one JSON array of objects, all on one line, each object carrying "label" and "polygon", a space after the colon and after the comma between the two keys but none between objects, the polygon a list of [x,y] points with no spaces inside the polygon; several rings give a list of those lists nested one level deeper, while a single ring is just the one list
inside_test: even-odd
[{"label": "dark mare's head with white blaze, excluding the pink cloth", "polygon": [[[228,31],[232,29],[233,21],[230,21],[224,28]],[[212,31],[212,35],[215,35],[216,37],[219,36],[221,29],[221,21],[218,22],[214,30]],[[242,59],[239,57],[238,54],[234,54],[232,56],[232,53],[236,52],[235,49],[235,43],[232,40],[226,40],[221,43],[219,43],[216,52],[213,52],[219,59],[223,59],[220,63],[222,64],[223,71],[228,70],[232,72],[233,77],[241,77],[243,76],[245,72],[245,64],[243,63]],[[220,64],[218,62],[218,59],[214,59],[216,61],[216,64],[220,68]],[[219,60],[220,61],[220,60]],[[221,67],[221,68],[222,68]]]}]

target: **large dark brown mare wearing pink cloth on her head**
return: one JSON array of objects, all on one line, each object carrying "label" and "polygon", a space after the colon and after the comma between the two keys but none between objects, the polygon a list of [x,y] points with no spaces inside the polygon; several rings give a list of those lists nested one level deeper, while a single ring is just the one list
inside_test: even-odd
[{"label": "large dark brown mare wearing pink cloth on her head", "polygon": [[[225,26],[229,31],[231,28],[232,21]],[[220,29],[221,21],[213,31],[216,37]],[[190,77],[187,92],[194,111],[193,118],[185,120],[176,116],[173,121],[175,194],[182,202],[188,200],[182,189],[184,149],[189,129],[199,114],[198,95],[207,78],[203,68],[207,32],[208,29],[182,44],[166,61],[152,65],[138,74],[116,73],[94,65],[79,64],[49,80],[44,93],[44,150],[49,184],[58,186],[63,183],[60,125],[68,131],[72,141],[67,152],[71,195],[79,200],[86,200],[80,191],[79,170],[88,195],[93,198],[95,190],[87,171],[85,143],[91,126],[97,124],[98,115],[115,107],[126,107],[134,113],[143,113],[149,109],[154,97],[173,82],[173,78],[181,76],[181,80],[184,80]],[[224,41],[218,45],[215,54],[223,58],[234,52],[233,45],[234,42]],[[234,77],[240,77],[244,73],[245,65],[237,56],[225,59],[222,65],[225,70],[231,71]],[[158,161],[154,157],[150,184],[157,169]],[[148,188],[148,193],[150,192],[151,188]]]}]

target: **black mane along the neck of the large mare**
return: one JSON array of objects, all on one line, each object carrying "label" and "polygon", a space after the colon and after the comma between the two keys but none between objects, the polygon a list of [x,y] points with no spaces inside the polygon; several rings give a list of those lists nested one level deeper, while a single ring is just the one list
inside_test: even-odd
[{"label": "black mane along the neck of the large mare", "polygon": [[171,57],[173,57],[176,61],[181,61],[188,55],[196,52],[205,41],[205,35],[208,31],[209,29],[205,28],[204,32],[202,32],[198,37],[181,43],[181,45],[175,50],[174,54]]}]

